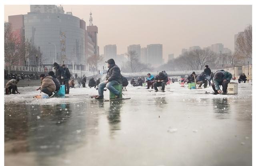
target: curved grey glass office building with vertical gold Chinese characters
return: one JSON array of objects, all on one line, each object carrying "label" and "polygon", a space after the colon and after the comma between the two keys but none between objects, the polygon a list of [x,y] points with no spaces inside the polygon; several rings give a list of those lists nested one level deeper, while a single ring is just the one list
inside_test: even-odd
[{"label": "curved grey glass office building with vertical gold Chinese characters", "polygon": [[80,28],[80,18],[70,14],[30,12],[24,15],[24,32],[25,38],[42,50],[45,66],[55,62],[55,46],[57,63],[63,63],[62,54],[66,52],[64,63],[69,68],[73,63],[75,69],[79,69],[80,64],[85,65],[85,30]]}]

